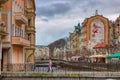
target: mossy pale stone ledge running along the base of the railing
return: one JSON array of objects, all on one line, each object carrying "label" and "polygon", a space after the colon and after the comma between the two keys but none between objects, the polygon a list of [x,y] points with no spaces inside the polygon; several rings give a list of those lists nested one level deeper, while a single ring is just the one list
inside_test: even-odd
[{"label": "mossy pale stone ledge running along the base of the railing", "polygon": [[7,72],[3,77],[120,77],[120,72]]}]

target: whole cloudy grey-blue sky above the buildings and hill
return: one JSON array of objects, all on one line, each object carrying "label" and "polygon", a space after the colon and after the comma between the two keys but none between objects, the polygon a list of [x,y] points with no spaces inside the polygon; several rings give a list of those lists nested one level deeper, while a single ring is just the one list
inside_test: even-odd
[{"label": "whole cloudy grey-blue sky above the buildings and hill", "polygon": [[95,10],[109,20],[120,14],[120,0],[35,0],[36,45],[48,45],[73,32]]}]

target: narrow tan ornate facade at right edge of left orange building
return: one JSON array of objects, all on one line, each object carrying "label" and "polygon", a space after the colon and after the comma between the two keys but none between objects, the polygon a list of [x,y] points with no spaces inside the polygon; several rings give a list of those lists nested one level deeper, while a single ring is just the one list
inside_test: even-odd
[{"label": "narrow tan ornate facade at right edge of left orange building", "polygon": [[35,16],[36,16],[35,0],[25,0],[25,15],[28,19],[26,26],[26,36],[30,40],[30,46],[26,47],[26,62],[34,63],[35,52]]}]

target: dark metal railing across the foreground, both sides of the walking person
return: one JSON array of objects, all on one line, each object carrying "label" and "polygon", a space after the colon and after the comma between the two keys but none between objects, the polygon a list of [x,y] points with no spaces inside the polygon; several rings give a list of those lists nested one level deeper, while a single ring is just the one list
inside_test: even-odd
[{"label": "dark metal railing across the foreground, both sides of the walking person", "polygon": [[[110,71],[119,72],[120,63],[82,63],[82,62],[61,62],[54,63],[53,71]],[[47,72],[48,65],[45,64],[5,64],[3,72]]]}]

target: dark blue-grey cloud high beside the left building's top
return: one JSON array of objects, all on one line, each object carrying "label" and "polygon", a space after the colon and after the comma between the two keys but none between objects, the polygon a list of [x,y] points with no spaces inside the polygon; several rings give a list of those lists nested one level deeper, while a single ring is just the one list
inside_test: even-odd
[{"label": "dark blue-grey cloud high beside the left building's top", "polygon": [[37,8],[37,16],[39,17],[54,17],[62,15],[71,9],[69,3],[51,3],[49,5],[40,6]]}]

